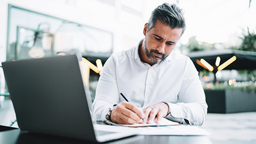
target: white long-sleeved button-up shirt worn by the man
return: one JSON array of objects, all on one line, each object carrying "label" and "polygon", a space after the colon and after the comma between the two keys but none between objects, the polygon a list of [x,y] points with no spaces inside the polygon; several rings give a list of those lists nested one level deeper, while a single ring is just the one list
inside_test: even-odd
[{"label": "white long-sleeved button-up shirt worn by the man", "polygon": [[129,50],[114,53],[106,61],[92,104],[96,120],[106,120],[108,108],[125,101],[142,108],[158,102],[168,102],[171,114],[166,118],[192,125],[202,125],[207,104],[193,62],[185,55],[172,51],[161,63],[150,66],[139,57],[142,41]]}]

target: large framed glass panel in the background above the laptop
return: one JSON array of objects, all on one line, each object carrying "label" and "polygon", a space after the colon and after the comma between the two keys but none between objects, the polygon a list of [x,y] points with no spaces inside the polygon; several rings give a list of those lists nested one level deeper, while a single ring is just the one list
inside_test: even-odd
[{"label": "large framed glass panel in the background above the laptop", "polygon": [[[58,52],[75,52],[83,56],[99,55],[100,57],[102,54],[110,55],[113,52],[113,33],[106,30],[13,5],[9,5],[8,19],[7,60],[38,58],[39,56],[36,55],[30,57],[28,52],[35,51],[39,54],[41,50],[44,56]],[[35,37],[36,35],[38,37]]]}]

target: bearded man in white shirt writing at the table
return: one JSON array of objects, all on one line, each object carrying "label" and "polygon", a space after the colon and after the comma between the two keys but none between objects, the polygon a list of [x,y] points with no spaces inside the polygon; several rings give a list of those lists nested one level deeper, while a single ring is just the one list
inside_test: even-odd
[{"label": "bearded man in white shirt writing at the table", "polygon": [[165,117],[203,124],[207,104],[198,72],[188,57],[173,51],[184,30],[177,5],[164,3],[152,12],[138,46],[112,54],[105,63],[92,105],[96,120],[133,124]]}]

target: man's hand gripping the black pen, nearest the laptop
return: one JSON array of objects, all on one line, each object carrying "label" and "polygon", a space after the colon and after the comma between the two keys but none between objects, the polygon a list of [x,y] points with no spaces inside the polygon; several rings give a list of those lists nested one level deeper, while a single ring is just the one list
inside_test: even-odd
[{"label": "man's hand gripping the black pen, nearest the laptop", "polygon": [[142,123],[141,118],[145,118],[145,114],[141,108],[123,101],[111,111],[110,118],[117,124],[134,124]]}]

